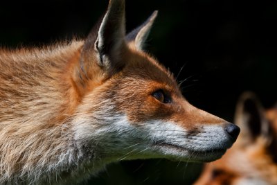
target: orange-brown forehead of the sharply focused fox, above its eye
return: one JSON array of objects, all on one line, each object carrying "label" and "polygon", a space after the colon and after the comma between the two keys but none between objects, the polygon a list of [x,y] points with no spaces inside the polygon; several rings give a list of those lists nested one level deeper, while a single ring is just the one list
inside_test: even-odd
[{"label": "orange-brown forehead of the sharply focused fox, above its eye", "polygon": [[126,61],[125,67],[111,78],[114,91],[121,89],[124,96],[136,94],[145,99],[145,96],[162,89],[170,96],[182,98],[173,74],[147,53],[131,50],[123,60]]}]

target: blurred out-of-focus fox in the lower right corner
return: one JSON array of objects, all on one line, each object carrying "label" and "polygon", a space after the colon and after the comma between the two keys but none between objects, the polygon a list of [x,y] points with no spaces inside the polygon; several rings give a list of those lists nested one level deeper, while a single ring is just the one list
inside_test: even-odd
[{"label": "blurred out-of-focus fox in the lower right corner", "polygon": [[241,134],[226,155],[207,164],[195,185],[277,184],[277,107],[264,110],[253,93],[242,94],[235,112]]}]

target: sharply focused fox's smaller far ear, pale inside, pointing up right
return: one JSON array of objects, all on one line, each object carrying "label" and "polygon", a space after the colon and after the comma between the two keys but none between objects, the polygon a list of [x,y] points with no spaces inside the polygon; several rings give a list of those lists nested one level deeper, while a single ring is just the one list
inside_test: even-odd
[{"label": "sharply focused fox's smaller far ear, pale inside, pointing up right", "polygon": [[143,46],[145,44],[146,39],[150,33],[154,20],[158,15],[158,11],[154,11],[148,19],[141,24],[141,26],[132,30],[132,32],[128,33],[126,36],[127,42],[134,42],[136,49],[143,50]]}]

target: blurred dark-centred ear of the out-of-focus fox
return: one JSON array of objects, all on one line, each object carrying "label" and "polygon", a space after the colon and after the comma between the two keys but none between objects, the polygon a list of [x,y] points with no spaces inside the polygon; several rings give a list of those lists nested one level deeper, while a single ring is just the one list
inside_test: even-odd
[{"label": "blurred dark-centred ear of the out-of-focus fox", "polygon": [[256,95],[251,92],[245,92],[240,96],[235,111],[235,124],[240,127],[243,142],[253,142],[259,136],[265,139],[270,137],[270,126],[265,117],[265,109]]}]

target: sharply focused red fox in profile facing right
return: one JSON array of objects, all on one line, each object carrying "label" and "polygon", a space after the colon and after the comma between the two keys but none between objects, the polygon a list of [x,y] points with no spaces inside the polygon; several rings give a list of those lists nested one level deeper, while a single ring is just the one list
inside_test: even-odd
[{"label": "sharply focused red fox in profile facing right", "polygon": [[75,184],[123,159],[213,161],[240,128],[182,96],[111,0],[85,40],[0,51],[0,184]]}]

